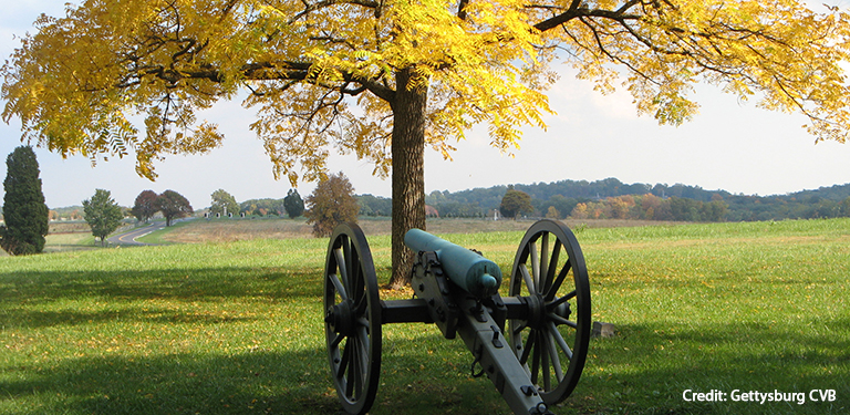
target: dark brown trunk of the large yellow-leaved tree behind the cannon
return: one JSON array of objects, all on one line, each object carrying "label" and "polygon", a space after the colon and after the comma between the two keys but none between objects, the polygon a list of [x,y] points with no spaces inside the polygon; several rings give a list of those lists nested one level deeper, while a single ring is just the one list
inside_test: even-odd
[{"label": "dark brown trunk of the large yellow-leaved tree behind the cannon", "polygon": [[395,75],[393,107],[393,276],[390,287],[411,282],[414,252],[404,245],[412,228],[425,229],[425,107],[427,84],[411,87],[413,68]]}]

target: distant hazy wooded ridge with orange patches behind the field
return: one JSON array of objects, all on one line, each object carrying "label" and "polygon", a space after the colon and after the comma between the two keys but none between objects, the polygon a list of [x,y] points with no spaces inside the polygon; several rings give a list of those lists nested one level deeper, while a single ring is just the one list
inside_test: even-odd
[{"label": "distant hazy wooded ridge with orange patches behind the field", "polygon": [[[475,188],[450,193],[434,190],[425,196],[432,216],[502,217],[509,190],[529,196],[522,215],[560,218],[622,218],[684,221],[753,221],[850,216],[850,184],[821,187],[787,195],[756,196],[706,190],[683,184],[624,184],[616,178],[595,181],[560,180]],[[390,216],[388,198],[357,196],[363,216]]]}]

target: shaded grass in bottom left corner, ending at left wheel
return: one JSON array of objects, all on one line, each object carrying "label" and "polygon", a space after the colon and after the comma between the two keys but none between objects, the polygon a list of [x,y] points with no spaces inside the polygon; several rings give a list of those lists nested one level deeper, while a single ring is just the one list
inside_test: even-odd
[{"label": "shaded grass in bottom left corner, ending at left wheel", "polygon": [[17,414],[333,414],[324,351],[65,360],[0,383]]}]

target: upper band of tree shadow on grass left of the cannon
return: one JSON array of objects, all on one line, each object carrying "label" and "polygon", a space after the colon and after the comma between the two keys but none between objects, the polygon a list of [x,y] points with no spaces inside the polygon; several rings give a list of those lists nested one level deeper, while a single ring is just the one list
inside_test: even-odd
[{"label": "upper band of tree shadow on grass left of the cannon", "polygon": [[[39,329],[108,321],[214,323],[245,320],[157,308],[152,301],[320,301],[317,272],[234,268],[0,274],[0,325]],[[62,305],[73,301],[77,305]],[[53,305],[59,304],[59,305]]]}]

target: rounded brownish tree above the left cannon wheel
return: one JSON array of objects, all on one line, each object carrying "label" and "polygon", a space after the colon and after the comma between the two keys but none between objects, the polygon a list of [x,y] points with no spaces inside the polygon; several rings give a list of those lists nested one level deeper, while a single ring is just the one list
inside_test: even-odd
[{"label": "rounded brownish tree above the left cannon wheel", "polygon": [[313,235],[329,237],[342,222],[356,222],[360,206],[354,187],[342,172],[319,180],[315,190],[307,197],[308,224],[313,224]]}]

